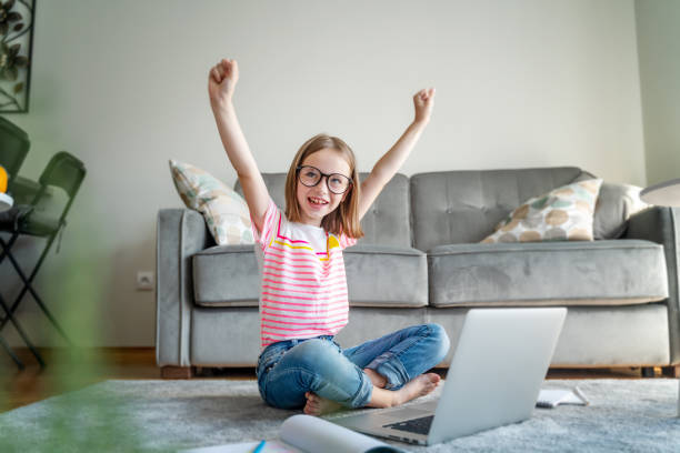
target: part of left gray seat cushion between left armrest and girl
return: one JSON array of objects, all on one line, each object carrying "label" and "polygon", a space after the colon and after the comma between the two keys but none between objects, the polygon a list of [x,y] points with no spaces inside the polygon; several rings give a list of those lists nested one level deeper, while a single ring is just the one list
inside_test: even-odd
[{"label": "part of left gray seat cushion between left armrest and girl", "polygon": [[201,306],[258,306],[260,269],[253,245],[217,245],[196,253],[193,296]]}]

